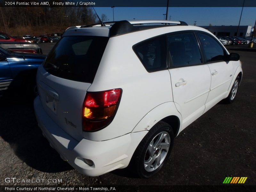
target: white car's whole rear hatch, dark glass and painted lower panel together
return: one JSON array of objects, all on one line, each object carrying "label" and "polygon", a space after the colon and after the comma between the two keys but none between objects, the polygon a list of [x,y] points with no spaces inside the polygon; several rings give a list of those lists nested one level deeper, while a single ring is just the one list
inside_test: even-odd
[{"label": "white car's whole rear hatch, dark glass and painted lower panel together", "polygon": [[64,36],[38,68],[37,85],[45,111],[76,140],[83,138],[86,90],[93,82],[107,43],[108,37]]}]

